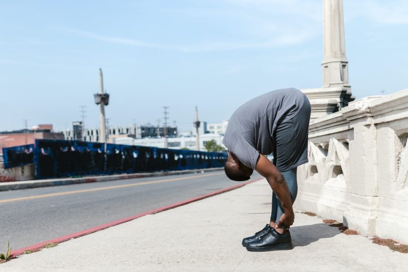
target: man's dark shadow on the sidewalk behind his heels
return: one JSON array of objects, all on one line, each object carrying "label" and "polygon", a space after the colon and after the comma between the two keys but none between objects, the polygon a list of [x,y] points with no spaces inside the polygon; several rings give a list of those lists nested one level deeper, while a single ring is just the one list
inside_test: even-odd
[{"label": "man's dark shadow on the sidewalk behind his heels", "polygon": [[330,228],[324,223],[291,227],[290,232],[293,246],[305,246],[341,234],[337,228]]}]

